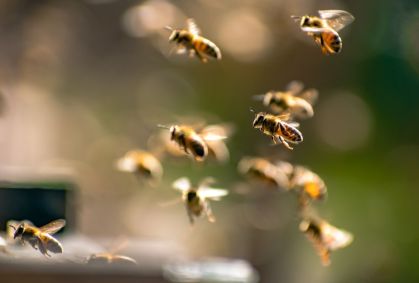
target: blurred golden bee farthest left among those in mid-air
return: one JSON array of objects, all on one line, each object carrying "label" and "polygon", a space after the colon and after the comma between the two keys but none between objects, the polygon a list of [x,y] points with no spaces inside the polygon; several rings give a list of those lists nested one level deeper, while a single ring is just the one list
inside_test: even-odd
[{"label": "blurred golden bee farthest left among those in mid-air", "polygon": [[160,161],[153,154],[143,150],[128,151],[118,159],[116,166],[120,171],[134,173],[150,181],[160,181],[163,176]]}]

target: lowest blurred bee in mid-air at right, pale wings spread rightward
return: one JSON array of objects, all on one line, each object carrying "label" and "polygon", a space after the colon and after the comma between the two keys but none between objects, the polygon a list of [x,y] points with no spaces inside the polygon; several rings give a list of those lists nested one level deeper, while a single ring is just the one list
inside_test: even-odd
[{"label": "lowest blurred bee in mid-air at right, pale wings spread rightward", "polygon": [[317,217],[304,218],[300,223],[300,230],[313,243],[324,266],[330,264],[330,253],[332,251],[344,248],[353,241],[351,233],[338,229]]}]

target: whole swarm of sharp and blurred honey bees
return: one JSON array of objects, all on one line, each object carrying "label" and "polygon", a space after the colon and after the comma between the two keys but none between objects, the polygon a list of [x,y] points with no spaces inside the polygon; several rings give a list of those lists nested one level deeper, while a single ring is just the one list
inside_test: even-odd
[{"label": "whole swarm of sharp and blurred honey bees", "polygon": [[[292,18],[299,22],[303,32],[313,37],[326,55],[341,51],[342,40],[338,31],[354,20],[350,13],[341,10],[322,10],[319,11],[319,17],[306,15],[292,16]],[[171,31],[169,41],[175,44],[173,51],[177,54],[187,53],[191,57],[196,56],[204,63],[210,58],[221,60],[220,49],[201,35],[193,19],[187,20],[186,29],[172,27],[166,29]],[[262,101],[271,113],[256,113],[252,110],[255,113],[253,128],[269,136],[274,144],[282,144],[289,150],[293,149],[290,144],[303,142],[303,134],[298,129],[299,123],[295,120],[314,116],[313,105],[318,98],[316,89],[305,90],[302,82],[292,81],[285,91],[269,91],[254,98]],[[159,125],[159,127],[164,131],[158,134],[157,138],[153,138],[151,143],[166,153],[174,156],[190,156],[199,162],[208,157],[220,162],[229,159],[229,151],[224,142],[231,135],[229,126],[220,124],[195,127],[179,123],[171,126]],[[163,177],[160,157],[160,154],[136,149],[128,151],[116,165],[120,171],[156,183]],[[313,213],[307,213],[313,201],[323,200],[327,195],[325,182],[310,169],[285,161],[271,162],[263,157],[245,157],[239,162],[238,170],[251,180],[297,195],[302,218],[300,230],[313,243],[324,265],[330,264],[331,251],[346,247],[352,242],[353,236],[349,232],[332,226]],[[213,183],[213,178],[205,178],[194,186],[187,177],[181,177],[173,182],[173,189],[182,195],[181,201],[185,205],[190,224],[194,224],[199,217],[206,217],[209,222],[215,222],[210,201],[219,201],[229,192],[226,189],[212,187]],[[61,243],[53,235],[65,224],[65,220],[58,219],[39,228],[29,221],[10,223],[9,227],[13,239],[19,239],[22,244],[29,243],[42,255],[50,257],[49,252],[63,253]],[[92,254],[85,262],[136,264],[134,259],[118,255],[115,250]]]}]

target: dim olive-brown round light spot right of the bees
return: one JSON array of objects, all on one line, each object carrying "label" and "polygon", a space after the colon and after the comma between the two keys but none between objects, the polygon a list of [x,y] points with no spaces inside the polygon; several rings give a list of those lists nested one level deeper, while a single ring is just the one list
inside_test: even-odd
[{"label": "dim olive-brown round light spot right of the bees", "polygon": [[324,99],[316,111],[316,128],[321,140],[341,150],[360,148],[372,130],[371,110],[358,96],[336,93]]}]

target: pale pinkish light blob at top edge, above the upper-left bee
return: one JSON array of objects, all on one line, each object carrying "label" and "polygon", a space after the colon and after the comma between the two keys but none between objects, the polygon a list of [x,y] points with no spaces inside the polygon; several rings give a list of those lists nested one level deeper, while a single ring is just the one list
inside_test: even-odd
[{"label": "pale pinkish light blob at top edge, above the upper-left bee", "polygon": [[164,0],[150,0],[128,9],[122,17],[124,30],[133,37],[145,37],[173,26],[181,13]]}]

